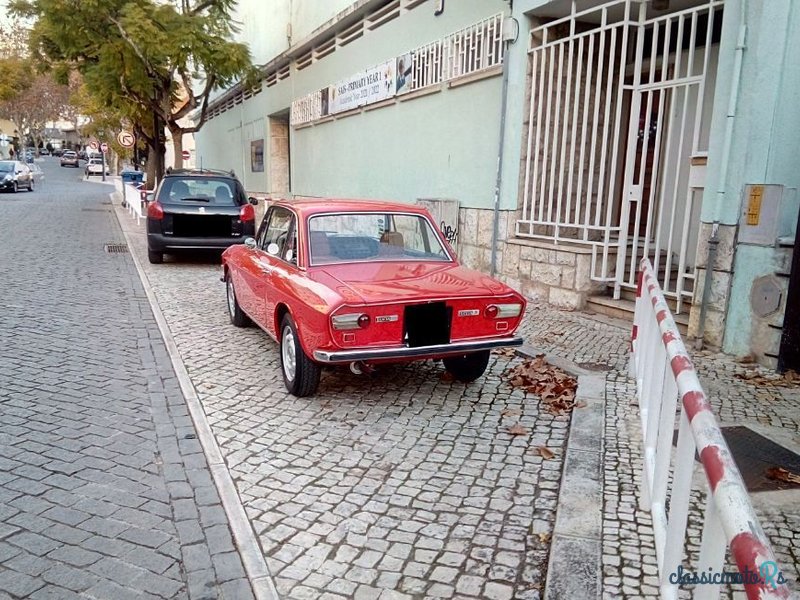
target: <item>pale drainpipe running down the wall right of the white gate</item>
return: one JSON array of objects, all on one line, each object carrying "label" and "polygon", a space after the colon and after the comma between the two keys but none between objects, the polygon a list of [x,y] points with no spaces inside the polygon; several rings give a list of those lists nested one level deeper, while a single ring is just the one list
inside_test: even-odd
[{"label": "pale drainpipe running down the wall right of the white gate", "polygon": [[733,59],[733,75],[731,77],[731,92],[728,96],[728,112],[725,121],[725,139],[722,143],[722,157],[717,185],[717,201],[714,204],[714,221],[711,224],[711,237],[708,239],[708,258],[706,259],[706,277],[703,282],[703,297],[700,301],[700,323],[697,338],[694,342],[696,350],[703,347],[703,336],[706,331],[706,313],[708,301],[711,296],[711,278],[714,274],[714,261],[717,258],[719,246],[719,213],[725,201],[725,184],[728,179],[728,161],[733,143],[733,124],[736,120],[736,105],[739,102],[739,81],[742,76],[742,57],[745,51],[745,37],[747,34],[747,0],[740,0],[741,16],[739,18],[739,38],[736,42],[736,54]]}]

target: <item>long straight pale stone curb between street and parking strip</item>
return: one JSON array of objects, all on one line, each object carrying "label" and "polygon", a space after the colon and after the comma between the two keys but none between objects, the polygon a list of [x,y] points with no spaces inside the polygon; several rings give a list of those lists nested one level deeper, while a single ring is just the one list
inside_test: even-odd
[{"label": "long straight pale stone curb between street and parking strip", "polygon": [[236,491],[236,486],[233,483],[233,478],[228,471],[228,466],[219,449],[217,440],[211,430],[211,425],[208,422],[206,413],[197,396],[197,391],[192,385],[189,378],[189,373],[186,366],[183,364],[178,347],[175,340],[172,338],[172,333],[169,330],[167,321],[164,318],[161,308],[158,305],[153,289],[150,287],[150,282],[147,275],[139,263],[136,253],[132,250],[131,238],[123,222],[119,218],[119,200],[121,198],[118,192],[109,194],[112,204],[114,206],[114,214],[119,221],[122,234],[125,236],[125,242],[128,248],[131,248],[130,255],[133,263],[136,266],[136,271],[139,273],[139,279],[144,287],[145,295],[150,303],[150,308],[153,311],[158,329],[161,332],[161,337],[164,338],[164,344],[167,347],[172,367],[175,370],[175,375],[178,378],[181,391],[183,392],[186,404],[189,408],[189,414],[194,422],[195,429],[197,430],[197,437],[203,447],[203,453],[208,461],[211,475],[214,479],[214,484],[219,492],[222,506],[225,509],[225,514],[228,516],[231,532],[236,541],[236,547],[242,559],[247,578],[250,580],[250,585],[253,588],[253,594],[256,600],[279,600],[278,591],[275,588],[275,583],[269,574],[267,563],[264,560],[264,554],[261,551],[261,546],[258,543],[258,538],[253,531],[250,520],[247,517],[242,501],[239,498],[239,493]]}]

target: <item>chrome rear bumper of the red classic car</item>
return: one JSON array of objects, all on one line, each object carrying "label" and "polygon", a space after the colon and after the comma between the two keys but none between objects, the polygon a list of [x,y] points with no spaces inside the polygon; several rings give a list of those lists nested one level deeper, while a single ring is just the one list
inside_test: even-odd
[{"label": "chrome rear bumper of the red classic car", "polygon": [[521,346],[521,337],[489,338],[483,340],[470,340],[466,342],[452,342],[450,344],[437,344],[435,346],[407,346],[395,348],[365,348],[358,350],[315,350],[314,360],[321,363],[348,363],[353,361],[373,360],[408,360],[423,358],[438,358],[452,354],[466,354],[492,348],[506,348]]}]

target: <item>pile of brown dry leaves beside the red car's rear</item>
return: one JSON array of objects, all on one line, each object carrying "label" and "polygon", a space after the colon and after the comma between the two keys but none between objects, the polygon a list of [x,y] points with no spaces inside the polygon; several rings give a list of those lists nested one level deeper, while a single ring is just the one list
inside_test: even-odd
[{"label": "pile of brown dry leaves beside the red car's rear", "polygon": [[509,383],[539,396],[548,412],[561,415],[585,406],[575,401],[578,380],[549,364],[544,354],[525,360],[508,372]]}]

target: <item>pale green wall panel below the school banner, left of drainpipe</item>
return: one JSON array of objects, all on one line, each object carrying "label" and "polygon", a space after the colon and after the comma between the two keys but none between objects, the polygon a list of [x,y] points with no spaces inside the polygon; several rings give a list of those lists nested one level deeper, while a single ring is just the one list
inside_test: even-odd
[{"label": "pale green wall panel below the school banner, left of drainpipe", "polygon": [[497,104],[497,83],[483,80],[296,130],[293,192],[491,206],[498,130],[485,111]]}]

